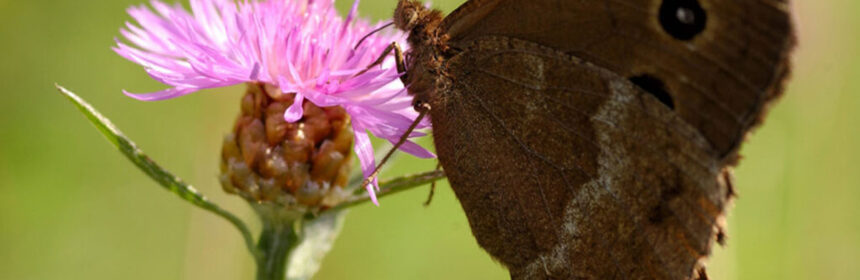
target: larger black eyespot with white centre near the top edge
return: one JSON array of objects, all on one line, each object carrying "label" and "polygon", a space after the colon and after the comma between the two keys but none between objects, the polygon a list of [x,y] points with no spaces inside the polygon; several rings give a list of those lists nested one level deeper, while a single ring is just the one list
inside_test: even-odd
[{"label": "larger black eyespot with white centre near the top edge", "polygon": [[660,25],[675,39],[687,41],[705,30],[708,15],[697,0],[663,0]]}]

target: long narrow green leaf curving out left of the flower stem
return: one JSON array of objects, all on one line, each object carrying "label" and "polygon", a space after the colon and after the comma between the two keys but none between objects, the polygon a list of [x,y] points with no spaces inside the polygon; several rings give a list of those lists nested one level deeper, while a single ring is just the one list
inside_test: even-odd
[{"label": "long narrow green leaf curving out left of the flower stem", "polygon": [[60,93],[65,95],[70,101],[72,101],[72,103],[75,104],[78,110],[80,110],[81,113],[83,113],[87,119],[95,125],[102,135],[111,142],[111,144],[119,149],[126,158],[134,163],[137,168],[146,173],[146,175],[158,182],[158,184],[168,191],[178,195],[183,200],[188,201],[197,207],[203,208],[206,211],[212,212],[215,215],[221,216],[236,226],[242,234],[242,237],[245,239],[245,245],[248,247],[248,250],[251,251],[251,254],[254,255],[255,259],[259,259],[259,254],[257,253],[257,249],[254,245],[254,239],[251,237],[251,232],[242,220],[227,210],[224,210],[218,205],[212,203],[209,199],[194,189],[194,187],[183,182],[182,179],[174,176],[152,161],[134,144],[134,142],[125,137],[125,135],[123,135],[122,132],[120,132],[119,129],[110,122],[110,120],[102,116],[95,108],[84,101],[84,99],[60,85],[55,86]]}]

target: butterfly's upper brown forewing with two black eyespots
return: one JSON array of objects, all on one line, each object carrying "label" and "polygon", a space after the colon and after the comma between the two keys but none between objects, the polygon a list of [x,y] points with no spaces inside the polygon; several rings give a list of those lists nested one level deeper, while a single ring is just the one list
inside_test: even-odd
[{"label": "butterfly's upper brown forewing with two black eyespots", "polygon": [[[479,0],[442,29],[455,48],[483,36],[516,38],[655,87],[733,160],[788,74],[788,10],[778,0]],[[684,14],[689,24],[678,20]]]}]

